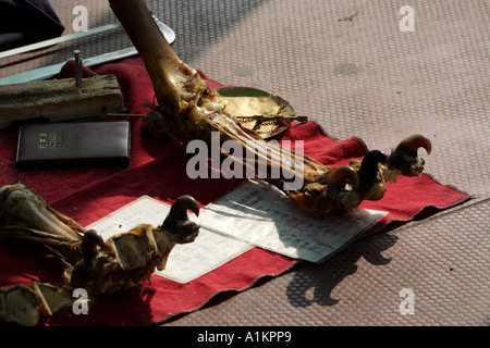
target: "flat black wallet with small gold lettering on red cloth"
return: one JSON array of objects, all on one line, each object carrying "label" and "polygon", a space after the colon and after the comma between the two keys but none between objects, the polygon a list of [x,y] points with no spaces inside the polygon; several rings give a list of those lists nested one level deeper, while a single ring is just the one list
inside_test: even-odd
[{"label": "flat black wallet with small gold lettering on red cloth", "polygon": [[16,164],[27,166],[128,165],[131,124],[37,123],[21,126]]}]

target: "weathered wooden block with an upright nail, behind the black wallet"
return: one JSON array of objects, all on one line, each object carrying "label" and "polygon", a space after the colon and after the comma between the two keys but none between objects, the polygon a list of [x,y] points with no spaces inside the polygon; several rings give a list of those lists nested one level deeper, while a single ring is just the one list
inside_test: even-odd
[{"label": "weathered wooden block with an upright nail, behind the black wallet", "polygon": [[114,75],[50,79],[0,86],[0,128],[32,119],[63,121],[123,109]]}]

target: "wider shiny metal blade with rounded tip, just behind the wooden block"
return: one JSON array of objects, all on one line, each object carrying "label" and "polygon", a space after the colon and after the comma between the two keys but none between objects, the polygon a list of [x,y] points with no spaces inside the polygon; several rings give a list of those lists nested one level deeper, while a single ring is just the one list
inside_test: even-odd
[{"label": "wider shiny metal blade with rounded tip, just behind the wooden block", "polygon": [[[166,37],[167,41],[169,41],[169,44],[172,44],[175,40],[175,33],[173,32],[173,29],[170,28],[167,24],[164,24],[160,20],[158,20],[155,15],[154,15],[154,20],[157,23],[157,25],[160,28],[163,36]],[[133,57],[133,55],[136,55],[137,53],[138,53],[138,51],[136,50],[135,47],[128,47],[128,48],[124,48],[124,49],[117,50],[113,52],[103,53],[100,55],[95,55],[91,58],[84,59],[83,64],[87,67],[90,67],[94,65],[108,63],[108,62],[111,62],[114,60]],[[24,73],[20,73],[20,74],[0,78],[0,86],[27,83],[27,82],[33,82],[33,80],[41,80],[41,79],[47,79],[47,78],[53,77],[60,73],[61,67],[63,67],[64,64],[66,64],[66,62],[68,62],[68,60],[62,63],[52,64],[52,65],[48,65],[48,66],[44,66],[44,67],[27,71]]]}]

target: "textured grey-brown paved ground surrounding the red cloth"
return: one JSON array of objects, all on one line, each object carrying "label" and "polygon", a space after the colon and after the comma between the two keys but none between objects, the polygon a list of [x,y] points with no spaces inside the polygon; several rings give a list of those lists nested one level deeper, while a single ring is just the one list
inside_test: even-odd
[{"label": "textured grey-brown paved ground surrounding the red cloth", "polygon": [[[166,325],[490,324],[488,1],[147,3],[175,30],[177,54],[210,78],[280,95],[331,136],[357,136],[370,149],[424,133],[433,144],[427,172],[476,196]],[[76,4],[89,10],[90,26],[114,21],[102,1],[52,4],[65,34]],[[413,32],[401,29],[405,20]],[[126,46],[117,29],[77,48],[93,55]],[[0,74],[59,62],[72,49],[0,61]],[[402,289],[415,296],[412,315],[400,312]]]}]

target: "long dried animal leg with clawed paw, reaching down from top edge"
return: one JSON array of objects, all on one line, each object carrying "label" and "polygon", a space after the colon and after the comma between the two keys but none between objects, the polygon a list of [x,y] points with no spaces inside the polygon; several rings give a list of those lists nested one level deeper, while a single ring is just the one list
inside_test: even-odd
[{"label": "long dried animal leg with clawed paw, reaching down from top edge", "polygon": [[[381,199],[385,191],[385,176],[395,181],[399,174],[420,174],[424,161],[416,154],[414,157],[412,149],[418,144],[426,149],[430,148],[430,141],[414,137],[402,141],[403,144],[390,157],[390,163],[385,163],[388,158],[384,154],[381,159],[379,151],[368,153],[365,159],[367,166],[364,169],[362,161],[353,161],[351,165],[359,175],[359,185],[354,190],[356,195],[347,194],[345,189],[335,189],[343,198],[335,198],[336,203],[329,202],[333,198],[331,194],[327,195],[328,184],[318,183],[318,178],[324,178],[332,171],[331,166],[303,153],[265,141],[255,132],[243,127],[237,117],[228,112],[226,103],[219,91],[209,88],[197,71],[175,54],[152,21],[143,0],[109,0],[109,2],[139,51],[154,85],[158,105],[152,104],[151,112],[144,120],[144,128],[151,135],[164,139],[170,137],[184,145],[193,139],[210,144],[211,134],[219,132],[221,146],[226,140],[237,141],[247,153],[253,153],[257,158],[257,163],[269,169],[280,167],[284,175],[269,176],[266,179],[285,190],[301,209],[321,217],[327,217],[330,212],[339,210],[351,211],[365,199]],[[230,156],[223,150],[222,153]],[[231,157],[236,163],[247,165],[245,158],[234,154]],[[284,158],[287,160],[284,161]],[[369,161],[373,161],[373,164],[368,165]],[[289,166],[287,163],[301,165]],[[301,189],[294,188],[293,191],[287,188],[286,184],[291,177],[303,183]],[[313,197],[315,199],[311,200]],[[321,199],[317,200],[320,197]],[[347,201],[346,197],[353,197],[353,200]],[[331,209],[332,204],[338,206],[340,201],[344,201],[343,209]]]}]

